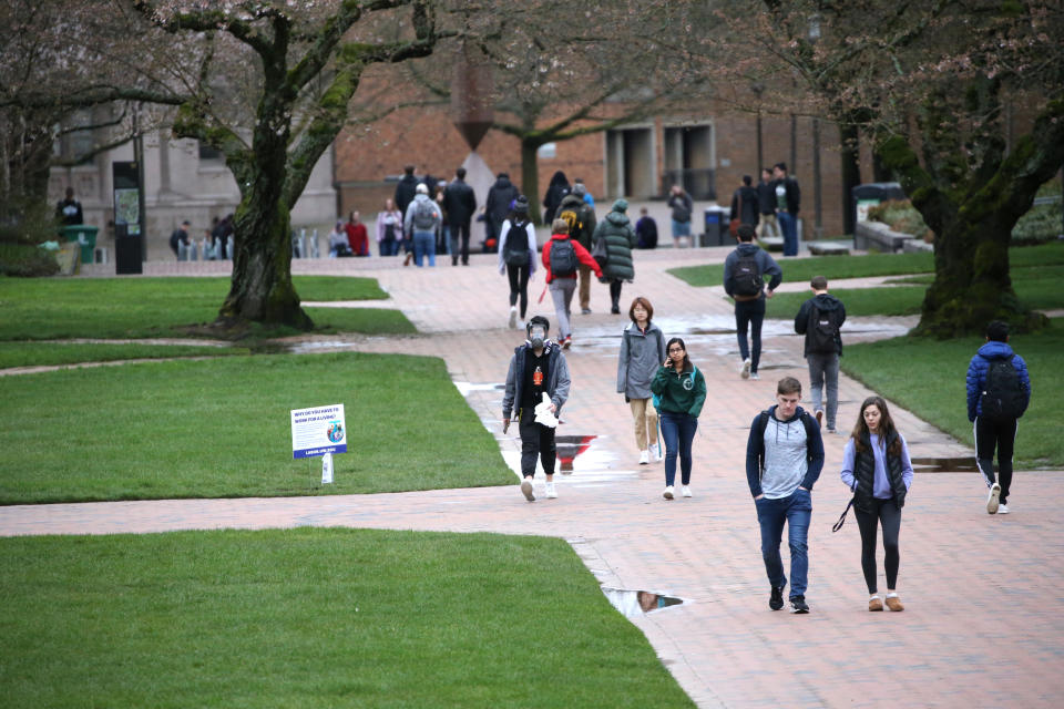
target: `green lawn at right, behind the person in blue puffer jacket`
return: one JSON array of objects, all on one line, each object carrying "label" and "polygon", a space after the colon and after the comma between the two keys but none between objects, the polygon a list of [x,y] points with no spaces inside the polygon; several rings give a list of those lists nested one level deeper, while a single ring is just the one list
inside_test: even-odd
[{"label": "green lawn at right, behind the person in blue puffer jacket", "polygon": [[[976,337],[947,341],[901,337],[846,346],[840,362],[842,371],[869,389],[971,443],[964,374],[981,345],[983,339]],[[1020,420],[1016,465],[1064,467],[1064,439],[1052,424],[1060,421],[1057,404],[1064,399],[1064,380],[1056,378],[1064,351],[1064,319],[1052,320],[1043,332],[1017,335],[1010,345],[1027,363],[1032,390],[1031,408]],[[852,424],[839,422],[843,429]]]}]

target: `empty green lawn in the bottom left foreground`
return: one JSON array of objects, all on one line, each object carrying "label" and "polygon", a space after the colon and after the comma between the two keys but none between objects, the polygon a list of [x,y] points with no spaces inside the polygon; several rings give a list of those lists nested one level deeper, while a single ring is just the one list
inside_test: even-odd
[{"label": "empty green lawn in the bottom left foreground", "polygon": [[693,707],[563,541],[0,540],[10,707]]}]

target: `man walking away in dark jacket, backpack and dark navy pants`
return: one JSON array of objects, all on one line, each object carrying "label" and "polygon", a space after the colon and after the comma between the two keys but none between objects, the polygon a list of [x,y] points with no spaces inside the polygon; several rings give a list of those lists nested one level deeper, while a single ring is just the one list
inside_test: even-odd
[{"label": "man walking away in dark jacket, backpack and dark navy pants", "polygon": [[[739,245],[724,260],[724,290],[735,300],[735,329],[739,341],[739,359],[743,379],[757,379],[757,366],[761,359],[761,323],[765,321],[765,302],[771,298],[784,279],[784,271],[768,251],[754,244],[754,227],[744,224],[738,230]],[[765,290],[765,276],[770,276]],[[750,330],[750,343],[746,341]]]}]

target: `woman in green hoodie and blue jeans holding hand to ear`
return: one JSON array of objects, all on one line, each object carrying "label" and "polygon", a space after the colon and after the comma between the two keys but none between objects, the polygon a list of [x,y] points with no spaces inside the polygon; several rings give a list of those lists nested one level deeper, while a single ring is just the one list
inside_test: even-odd
[{"label": "woman in green hoodie and blue jeans holding hand to ear", "polygon": [[706,379],[687,357],[687,346],[678,337],[665,343],[668,356],[651,382],[657,395],[662,439],[665,441],[665,492],[672,500],[676,482],[676,458],[679,458],[679,482],[684,497],[690,497],[690,444],[698,430],[698,414],[706,403]]}]

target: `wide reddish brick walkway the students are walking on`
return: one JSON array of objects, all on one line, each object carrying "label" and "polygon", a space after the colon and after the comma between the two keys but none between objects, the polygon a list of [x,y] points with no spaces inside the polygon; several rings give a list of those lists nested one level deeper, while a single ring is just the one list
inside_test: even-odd
[{"label": "wide reddish brick walkway the students are walking on", "polygon": [[[665,273],[681,263],[722,260],[726,253],[641,253],[636,284],[626,285],[623,296],[648,296],[656,320],[666,333],[683,333],[709,382],[694,446],[692,500],[664,502],[662,466],[633,464],[627,407],[614,393],[624,320],[605,314],[608,296],[596,285],[595,312],[574,316],[575,345],[569,354],[574,386],[559,434],[597,438],[576,458],[573,472],[556,479],[559,500],[529,504],[514,486],[11,506],[0,508],[0,534],[340,525],[556,535],[570,541],[603,584],[685,599],[682,606],[633,621],[702,707],[1058,706],[1064,697],[1058,671],[1064,620],[1056,607],[1064,602],[1064,535],[1055,504],[1064,493],[1064,476],[1058,471],[1017,473],[1010,500],[1014,513],[1009,516],[986,515],[984,487],[974,473],[918,473],[902,527],[899,588],[907,610],[870,614],[864,610],[852,516],[838,534],[830,531],[848,499],[838,482],[845,439],[831,436],[814,493],[812,613],[768,610],[768,583],[744,474],[745,442],[751,418],[771,403],[775,380],[794,374],[805,381],[805,362],[801,340],[789,332],[790,325],[770,323],[763,380],[740,380],[735,336],[727,331],[733,326],[730,306]],[[314,338],[314,348],[444,358],[513,464],[518,445],[512,435],[501,434],[495,384],[522,338],[502,327],[507,286],[491,258],[477,256],[469,268],[447,264],[436,270],[393,264],[375,269],[377,261],[321,261],[316,273],[370,273],[424,335]],[[786,261],[782,267],[786,275]],[[549,297],[535,304],[542,287],[538,279],[530,288],[530,315],[542,312],[553,322]],[[908,325],[911,321],[855,319],[843,331],[853,341],[903,331]],[[959,382],[959,398],[962,391]],[[842,378],[840,427],[855,420],[858,402],[868,394],[860,383]],[[966,441],[953,441],[897,407],[892,412],[914,456],[972,454]]]}]

